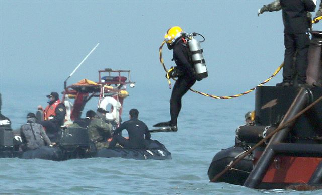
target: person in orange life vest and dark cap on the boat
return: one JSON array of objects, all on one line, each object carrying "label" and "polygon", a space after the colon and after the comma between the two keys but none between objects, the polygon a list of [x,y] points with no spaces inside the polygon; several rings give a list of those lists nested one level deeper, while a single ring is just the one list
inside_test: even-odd
[{"label": "person in orange life vest and dark cap on the boat", "polygon": [[40,124],[45,127],[46,133],[52,142],[59,142],[61,138],[60,126],[64,124],[66,108],[59,100],[57,92],[51,92],[46,97],[49,98],[48,106],[43,110],[42,106],[38,106],[38,110],[44,113],[44,121]]}]

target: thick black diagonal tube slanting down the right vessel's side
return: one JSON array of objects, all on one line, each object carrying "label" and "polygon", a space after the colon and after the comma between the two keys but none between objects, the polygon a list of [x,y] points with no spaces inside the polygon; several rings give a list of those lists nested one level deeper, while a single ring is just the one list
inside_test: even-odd
[{"label": "thick black diagonal tube slanting down the right vessel's side", "polygon": [[[310,93],[308,89],[301,88],[279,126],[292,119],[297,113],[304,109],[305,106],[308,105],[308,101],[310,99],[309,96]],[[273,135],[262,156],[246,179],[244,186],[249,188],[256,188],[260,184],[270,165],[271,160],[275,155],[272,145],[282,142],[288,136],[289,131],[291,130],[291,127],[294,125],[294,123],[295,120],[292,121],[288,126],[283,128],[281,131]]]}]

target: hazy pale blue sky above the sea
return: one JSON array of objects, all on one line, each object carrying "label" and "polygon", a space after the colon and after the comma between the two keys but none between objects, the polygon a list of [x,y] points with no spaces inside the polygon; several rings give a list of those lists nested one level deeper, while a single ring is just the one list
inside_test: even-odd
[{"label": "hazy pale blue sky above the sea", "polygon": [[[98,81],[99,69],[130,69],[137,87],[166,91],[158,48],[166,30],[177,25],[206,38],[202,47],[209,77],[194,88],[216,95],[244,92],[283,61],[281,12],[257,17],[257,10],[270,2],[1,0],[0,92],[30,85],[62,90],[63,81],[97,43],[68,84]],[[322,22],[313,28],[321,27]],[[164,47],[168,67],[174,64],[171,53]],[[280,81],[281,73],[269,85]]]}]

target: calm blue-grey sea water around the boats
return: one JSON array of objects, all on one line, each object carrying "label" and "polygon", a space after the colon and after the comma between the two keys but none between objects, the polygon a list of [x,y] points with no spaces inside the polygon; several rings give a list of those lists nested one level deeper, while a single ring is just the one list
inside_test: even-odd
[{"label": "calm blue-grey sea water around the boats", "polygon": [[[22,89],[25,92],[21,92]],[[52,90],[2,87],[2,113],[17,129],[28,112],[46,105]],[[170,90],[146,92],[130,89],[124,101],[123,120],[137,108],[150,128],[167,121]],[[231,95],[231,94],[219,94]],[[234,132],[244,114],[254,109],[255,92],[233,100],[213,100],[192,92],[183,98],[178,132],[154,133],[171,160],[122,158],[48,160],[0,159],[0,193],[12,194],[321,194],[322,191],[254,190],[227,183],[209,183],[207,171],[213,156],[234,144]],[[95,102],[85,110],[95,109]]]}]

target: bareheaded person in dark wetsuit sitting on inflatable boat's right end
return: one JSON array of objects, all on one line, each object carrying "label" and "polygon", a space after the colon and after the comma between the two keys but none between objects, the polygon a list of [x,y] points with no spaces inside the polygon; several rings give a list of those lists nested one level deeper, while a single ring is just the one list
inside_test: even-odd
[{"label": "bareheaded person in dark wetsuit sitting on inflatable boat's right end", "polygon": [[[148,127],[142,121],[138,120],[139,111],[137,109],[130,110],[130,120],[125,121],[113,133],[113,139],[109,144],[109,148],[114,148],[116,143],[126,148],[144,149],[146,148],[145,139],[149,140],[151,134]],[[126,129],[129,134],[129,139],[118,135]],[[145,134],[145,139],[144,139]]]}]

